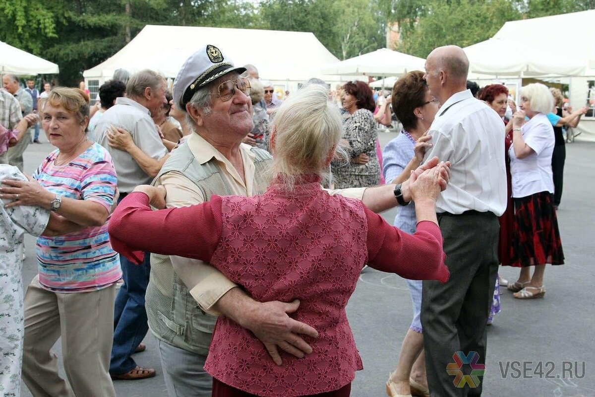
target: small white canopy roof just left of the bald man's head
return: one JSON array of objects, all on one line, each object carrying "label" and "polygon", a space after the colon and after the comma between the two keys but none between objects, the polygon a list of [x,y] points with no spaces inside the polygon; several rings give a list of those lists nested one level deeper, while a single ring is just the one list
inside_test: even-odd
[{"label": "small white canopy roof just left of the bald man's head", "polygon": [[377,49],[359,57],[322,68],[325,74],[400,76],[412,70],[424,70],[425,60],[388,48]]}]

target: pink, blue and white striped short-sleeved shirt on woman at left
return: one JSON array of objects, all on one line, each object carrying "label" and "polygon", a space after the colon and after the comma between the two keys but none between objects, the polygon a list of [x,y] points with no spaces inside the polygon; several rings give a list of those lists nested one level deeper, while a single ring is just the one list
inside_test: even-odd
[{"label": "pink, blue and white striped short-sleeved shirt on woman at left", "polygon": [[[109,153],[93,143],[79,157],[55,165],[55,150],[33,178],[63,198],[91,200],[108,211],[114,202],[117,177]],[[102,226],[37,239],[39,283],[57,292],[89,292],[108,287],[121,277],[120,258],[109,243],[107,221]]]}]

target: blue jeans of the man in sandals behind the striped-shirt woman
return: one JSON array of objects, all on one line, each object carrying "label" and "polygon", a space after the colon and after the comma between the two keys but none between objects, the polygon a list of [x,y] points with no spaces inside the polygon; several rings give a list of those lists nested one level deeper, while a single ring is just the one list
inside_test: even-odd
[{"label": "blue jeans of the man in sandals behind the striped-shirt woman", "polygon": [[135,265],[120,255],[124,284],[115,298],[114,343],[109,362],[109,373],[112,375],[124,374],[136,367],[130,355],[149,330],[145,292],[151,272],[150,259],[151,254],[145,252],[142,265]]}]

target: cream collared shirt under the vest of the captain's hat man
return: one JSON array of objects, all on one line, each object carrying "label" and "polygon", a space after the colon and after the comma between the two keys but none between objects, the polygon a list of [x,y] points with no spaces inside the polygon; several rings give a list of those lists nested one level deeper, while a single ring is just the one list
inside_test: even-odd
[{"label": "cream collared shirt under the vest of the captain's hat man", "polygon": [[[244,178],[242,178],[231,162],[200,135],[192,133],[187,142],[190,151],[201,164],[205,164],[212,158],[217,161],[223,171],[221,176],[234,195],[248,197],[255,195],[256,192],[253,190],[254,155],[250,151],[249,145],[245,143],[240,145],[244,166]],[[195,183],[177,171],[164,174],[159,179],[159,183],[167,190],[165,201],[168,208],[187,207],[205,202],[205,197]],[[328,192],[330,194],[340,192],[343,196],[361,200],[364,190],[365,188],[354,188],[340,191],[328,190]],[[170,259],[174,271],[189,288],[190,295],[196,299],[201,308],[213,314],[220,314],[214,310],[213,305],[228,290],[237,285],[206,262],[176,256],[171,256]]]}]

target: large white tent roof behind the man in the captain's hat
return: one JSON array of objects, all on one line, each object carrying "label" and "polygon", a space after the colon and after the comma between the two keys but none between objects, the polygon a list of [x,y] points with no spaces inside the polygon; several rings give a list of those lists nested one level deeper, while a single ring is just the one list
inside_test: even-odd
[{"label": "large white tent roof behind the man in the captain's hat", "polygon": [[329,76],[320,73],[321,65],[338,61],[308,32],[147,25],[114,56],[85,70],[83,76],[109,79],[118,68],[131,73],[150,68],[176,77],[184,61],[206,44],[220,48],[236,65],[255,65],[261,79],[267,80],[326,80]]}]

